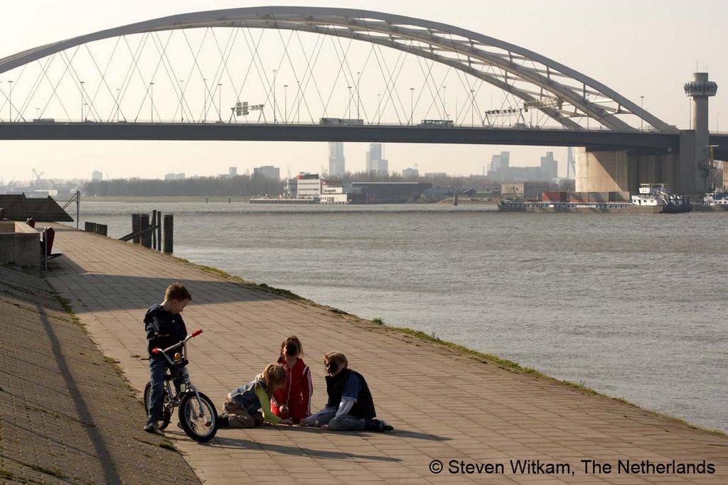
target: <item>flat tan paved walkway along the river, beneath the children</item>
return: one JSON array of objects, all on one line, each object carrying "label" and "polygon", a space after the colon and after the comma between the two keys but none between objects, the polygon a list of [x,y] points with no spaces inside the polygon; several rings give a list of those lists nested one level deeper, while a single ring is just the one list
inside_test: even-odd
[{"label": "flat tan paved walkway along the river, beneath the children", "polygon": [[[170,426],[166,436],[206,483],[728,481],[728,438],[479,362],[308,302],[275,297],[138,246],[70,229],[58,231],[56,244],[64,256],[52,262],[50,283],[70,300],[103,353],[119,361],[135,388],[141,390],[149,378],[144,310],[162,300],[167,284],[182,281],[193,295],[184,313],[188,327],[205,330],[191,341],[191,375],[218,409],[229,390],[274,361],[284,337],[296,334],[312,368],[314,408],[325,403],[321,356],[341,350],[349,366],[367,377],[379,417],[395,427],[382,434],[223,429],[210,444],[201,445]],[[432,460],[443,463],[441,473],[432,473]],[[451,460],[458,465],[451,466]],[[513,473],[511,460],[566,463],[570,473]],[[580,460],[613,468],[611,473],[585,473]],[[617,470],[618,460],[705,460],[716,471],[628,474]],[[502,463],[504,473],[451,473],[460,470],[461,461],[473,466]]]}]

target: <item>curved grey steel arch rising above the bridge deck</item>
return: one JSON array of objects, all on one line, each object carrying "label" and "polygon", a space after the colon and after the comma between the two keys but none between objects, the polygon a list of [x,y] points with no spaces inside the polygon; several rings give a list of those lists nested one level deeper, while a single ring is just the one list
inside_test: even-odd
[{"label": "curved grey steel arch rising above the bridge deck", "polygon": [[[277,29],[363,41],[446,65],[480,79],[501,89],[507,96],[517,99],[518,103],[521,103],[521,110],[531,109],[543,113],[564,130],[585,130],[588,127],[588,120],[593,120],[599,129],[609,131],[638,132],[641,128],[638,129],[633,124],[643,126],[647,124],[652,133],[674,135],[678,132],[676,127],[657,119],[613,89],[537,52],[453,25],[359,9],[249,7],[173,15],[18,52],[0,59],[0,73],[24,68],[44,57],[102,39],[194,28]],[[68,69],[70,64],[68,55],[64,63]],[[78,76],[76,82],[79,82]],[[83,81],[80,83],[83,89]],[[12,95],[12,86],[10,88]],[[356,88],[358,91],[358,84]],[[207,90],[207,86],[205,89]],[[179,87],[179,90],[183,111],[185,91],[183,87]],[[470,91],[472,93],[473,89]],[[12,113],[12,100],[8,100],[7,92],[3,92],[3,95],[9,102],[9,111]],[[213,95],[214,92],[210,92],[210,97]],[[118,96],[117,93],[117,121]],[[27,105],[25,109],[28,109]],[[152,100],[152,110],[154,110],[154,100]],[[218,106],[218,110],[222,111],[221,106]],[[18,116],[17,121],[26,121],[18,108],[15,108],[15,111]],[[277,111],[275,106],[273,111],[275,117]],[[444,101],[443,112],[445,112]],[[15,121],[12,116],[10,121]],[[584,126],[585,121],[587,127]]]}]

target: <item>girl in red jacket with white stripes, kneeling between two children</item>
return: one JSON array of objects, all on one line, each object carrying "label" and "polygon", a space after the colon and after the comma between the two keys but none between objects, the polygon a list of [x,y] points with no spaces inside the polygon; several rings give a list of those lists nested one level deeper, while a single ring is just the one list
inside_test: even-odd
[{"label": "girl in red jacket with white stripes, kneeling between two children", "polygon": [[285,366],[288,379],[285,388],[273,393],[271,411],[282,419],[293,420],[298,424],[304,417],[311,415],[311,395],[314,392],[311,371],[301,356],[304,348],[301,340],[292,335],[280,345],[278,363]]}]

